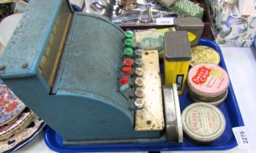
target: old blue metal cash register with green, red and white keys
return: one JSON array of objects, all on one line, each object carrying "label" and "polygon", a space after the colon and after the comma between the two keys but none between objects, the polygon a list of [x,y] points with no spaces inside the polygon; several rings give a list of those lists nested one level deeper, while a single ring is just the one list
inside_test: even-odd
[{"label": "old blue metal cash register with green, red and white keys", "polygon": [[164,117],[174,102],[162,102],[158,52],[129,54],[125,39],[69,1],[31,0],[0,55],[0,77],[64,144],[182,141],[176,117]]}]

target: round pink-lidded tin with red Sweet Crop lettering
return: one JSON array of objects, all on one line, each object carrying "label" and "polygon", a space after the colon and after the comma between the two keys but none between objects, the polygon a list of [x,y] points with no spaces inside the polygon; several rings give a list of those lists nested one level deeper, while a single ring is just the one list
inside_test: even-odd
[{"label": "round pink-lidded tin with red Sweet Crop lettering", "polygon": [[[199,98],[217,98],[225,95],[230,83],[227,72],[212,63],[200,63],[189,70],[187,76],[189,89]],[[217,101],[216,99],[212,99]]]}]

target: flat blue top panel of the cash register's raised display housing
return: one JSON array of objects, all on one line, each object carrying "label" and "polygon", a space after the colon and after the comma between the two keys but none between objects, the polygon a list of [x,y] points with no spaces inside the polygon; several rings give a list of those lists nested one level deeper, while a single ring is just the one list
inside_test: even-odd
[{"label": "flat blue top panel of the cash register's raised display housing", "polygon": [[[1,78],[32,76],[45,52],[62,0],[33,0],[1,55]],[[44,9],[37,9],[37,8]],[[23,68],[23,64],[27,64]]]}]

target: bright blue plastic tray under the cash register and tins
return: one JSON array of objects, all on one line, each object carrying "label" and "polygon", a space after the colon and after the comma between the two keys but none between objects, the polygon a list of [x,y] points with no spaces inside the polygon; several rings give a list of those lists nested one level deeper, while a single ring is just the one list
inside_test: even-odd
[{"label": "bright blue plastic tray under the cash register and tins", "polygon": [[[209,39],[200,39],[199,45],[206,45],[212,47],[219,52],[221,61],[219,63],[222,68],[227,70],[225,62],[222,57],[222,52],[215,42]],[[222,110],[225,115],[227,125],[222,136],[214,141],[213,144],[208,146],[198,146],[193,144],[191,141],[184,138],[182,144],[178,143],[151,143],[151,144],[90,144],[83,146],[65,146],[62,144],[61,136],[59,136],[50,127],[47,127],[44,131],[45,143],[50,149],[56,152],[148,152],[148,151],[189,151],[189,150],[225,150],[232,149],[237,146],[236,138],[233,136],[232,127],[238,127],[244,125],[241,113],[238,108],[236,96],[233,91],[233,87],[230,83],[228,88],[228,95],[226,100],[219,105],[219,109]],[[189,105],[187,100],[187,91],[184,91],[184,95],[179,97],[181,111]],[[67,129],[68,130],[68,129]]]}]

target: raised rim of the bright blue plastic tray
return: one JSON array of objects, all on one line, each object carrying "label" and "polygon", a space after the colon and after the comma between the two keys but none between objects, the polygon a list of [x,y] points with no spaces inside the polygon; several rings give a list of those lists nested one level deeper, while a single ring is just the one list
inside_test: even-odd
[{"label": "raised rim of the bright blue plastic tray", "polygon": [[[211,39],[205,39],[200,38],[200,42],[198,45],[204,45],[204,44],[210,44],[210,47],[214,47],[219,52],[222,68],[224,68],[227,71],[227,66],[225,65],[225,60],[222,55],[222,50],[220,50],[220,47],[213,42]],[[228,74],[228,71],[227,71]],[[236,110],[236,121],[238,126],[244,126],[244,121],[241,116],[241,111],[239,109],[236,95],[233,90],[232,82],[230,81],[230,85],[228,87],[229,94],[231,95],[231,98],[233,100],[233,105]],[[43,138],[45,141],[45,144],[52,149],[55,152],[154,152],[154,151],[206,151],[206,150],[227,150],[227,149],[233,149],[235,146],[237,146],[236,139],[233,139],[232,143],[227,144],[227,146],[181,146],[181,144],[177,144],[177,146],[168,146],[170,143],[149,143],[149,144],[138,144],[137,146],[130,146],[129,148],[125,148],[125,144],[116,144],[115,147],[111,146],[108,147],[105,145],[105,147],[97,147],[100,145],[95,145],[95,147],[86,147],[83,148],[83,146],[68,146],[68,147],[59,147],[56,138],[56,132],[52,130],[50,127],[46,127],[43,132]],[[161,145],[157,145],[161,144]]]}]

